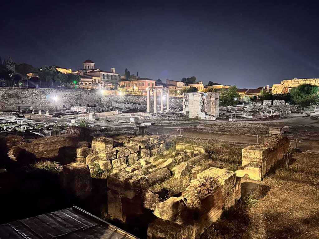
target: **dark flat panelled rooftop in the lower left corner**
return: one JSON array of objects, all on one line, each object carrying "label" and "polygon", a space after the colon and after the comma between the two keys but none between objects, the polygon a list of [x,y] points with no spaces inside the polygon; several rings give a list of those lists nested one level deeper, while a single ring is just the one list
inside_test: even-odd
[{"label": "dark flat panelled rooftop in the lower left corner", "polygon": [[79,207],[0,225],[0,238],[137,238]]}]

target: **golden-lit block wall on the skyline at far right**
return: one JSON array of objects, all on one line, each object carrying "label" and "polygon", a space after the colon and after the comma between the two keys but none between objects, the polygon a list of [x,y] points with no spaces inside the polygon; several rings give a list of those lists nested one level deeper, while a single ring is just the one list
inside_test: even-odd
[{"label": "golden-lit block wall on the skyline at far right", "polygon": [[302,84],[312,84],[312,85],[319,86],[319,78],[283,80],[280,84],[272,85],[271,93],[272,94],[288,93],[289,88],[297,87]]}]

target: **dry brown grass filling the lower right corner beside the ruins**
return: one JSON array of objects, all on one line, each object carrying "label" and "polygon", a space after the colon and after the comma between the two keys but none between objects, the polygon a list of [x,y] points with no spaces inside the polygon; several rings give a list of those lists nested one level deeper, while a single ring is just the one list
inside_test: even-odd
[{"label": "dry brown grass filling the lower right corner beside the ruins", "polygon": [[[318,155],[297,153],[291,160],[224,212],[201,238],[319,238]],[[266,195],[264,189],[269,189]]]}]

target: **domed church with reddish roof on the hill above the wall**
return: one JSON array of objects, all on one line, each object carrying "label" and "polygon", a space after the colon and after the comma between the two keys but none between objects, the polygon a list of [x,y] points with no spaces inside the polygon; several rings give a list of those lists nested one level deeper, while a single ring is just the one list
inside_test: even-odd
[{"label": "domed church with reddish roof on the hill above the wall", "polygon": [[[83,62],[83,68],[76,71],[81,76],[79,86],[83,88],[98,87],[100,89],[114,89],[116,90],[121,82],[121,76],[115,72],[115,68],[110,71],[95,68],[95,63],[87,59]],[[85,87],[87,86],[87,87]]]}]

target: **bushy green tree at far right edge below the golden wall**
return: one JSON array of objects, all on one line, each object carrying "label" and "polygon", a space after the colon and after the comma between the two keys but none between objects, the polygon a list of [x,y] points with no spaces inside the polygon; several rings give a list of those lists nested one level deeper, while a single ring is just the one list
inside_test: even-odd
[{"label": "bushy green tree at far right edge below the golden wall", "polygon": [[319,88],[312,84],[302,84],[291,89],[290,94],[293,101],[304,109],[306,106],[314,105],[319,101]]}]

